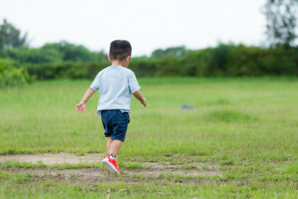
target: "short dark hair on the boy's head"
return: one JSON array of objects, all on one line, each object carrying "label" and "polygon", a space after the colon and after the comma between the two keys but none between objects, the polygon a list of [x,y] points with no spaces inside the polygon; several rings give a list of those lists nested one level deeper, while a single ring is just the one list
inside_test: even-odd
[{"label": "short dark hair on the boy's head", "polygon": [[122,61],[132,55],[132,46],[126,40],[114,40],[111,42],[109,55],[111,60]]}]

